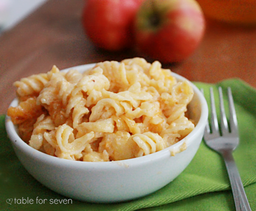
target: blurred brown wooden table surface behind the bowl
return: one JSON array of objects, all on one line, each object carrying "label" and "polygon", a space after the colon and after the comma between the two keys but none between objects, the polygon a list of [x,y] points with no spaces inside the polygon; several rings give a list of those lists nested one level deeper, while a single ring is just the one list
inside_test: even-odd
[{"label": "blurred brown wooden table surface behind the bowl", "polygon": [[[53,64],[60,69],[138,56],[135,51],[101,51],[81,26],[84,0],[49,0],[13,29],[0,36],[0,114],[15,97],[13,82]],[[216,83],[240,77],[256,87],[256,27],[208,20],[205,36],[190,58],[164,65],[191,81]]]}]

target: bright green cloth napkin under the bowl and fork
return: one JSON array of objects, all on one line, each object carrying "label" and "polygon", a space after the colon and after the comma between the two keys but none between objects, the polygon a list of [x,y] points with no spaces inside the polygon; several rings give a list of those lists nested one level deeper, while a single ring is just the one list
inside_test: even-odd
[{"label": "bright green cloth napkin under the bowl and fork", "polygon": [[[239,125],[240,145],[234,157],[245,186],[250,206],[256,210],[256,90],[239,79],[218,84],[195,83],[203,88],[207,100],[209,87],[231,87]],[[217,100],[216,100],[217,101]],[[209,101],[208,101],[209,102]],[[217,102],[216,102],[217,103]],[[227,95],[224,95],[227,106]],[[50,204],[50,199],[65,197],[50,191],[37,182],[15,156],[0,116],[0,210],[2,211],[235,211],[229,179],[222,158],[202,141],[195,158],[184,172],[161,190],[129,202],[118,204],[89,204],[72,201],[72,204]],[[148,184],[150,185],[150,184]],[[47,199],[36,204],[36,198]],[[13,198],[12,204],[6,202]],[[16,204],[14,203],[16,198]],[[33,204],[17,204],[17,199],[33,199]],[[68,198],[66,198],[68,199]],[[39,202],[43,202],[40,200]],[[70,201],[69,201],[70,202]]]}]

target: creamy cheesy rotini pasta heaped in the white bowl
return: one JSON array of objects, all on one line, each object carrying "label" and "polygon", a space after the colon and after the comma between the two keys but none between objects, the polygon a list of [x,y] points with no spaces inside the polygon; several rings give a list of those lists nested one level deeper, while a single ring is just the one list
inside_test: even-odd
[{"label": "creamy cheesy rotini pasta heaped in the white bowl", "polygon": [[84,73],[60,71],[15,82],[19,105],[7,115],[21,139],[68,160],[126,160],[158,152],[187,136],[193,89],[143,58],[106,61]]}]

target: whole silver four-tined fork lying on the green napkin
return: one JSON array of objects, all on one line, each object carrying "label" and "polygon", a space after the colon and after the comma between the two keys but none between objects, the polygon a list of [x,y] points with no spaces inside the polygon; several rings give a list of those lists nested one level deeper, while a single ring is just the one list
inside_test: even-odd
[{"label": "whole silver four-tined fork lying on the green napkin", "polygon": [[[203,93],[203,90],[201,90]],[[209,122],[207,122],[204,130],[204,141],[211,149],[222,155],[224,159],[233,197],[236,205],[236,211],[251,211],[248,199],[243,189],[243,183],[238,173],[235,160],[232,152],[236,149],[239,144],[239,135],[237,129],[236,110],[230,87],[228,88],[229,96],[229,126],[225,115],[222,88],[219,87],[219,100],[220,100],[220,111],[221,111],[221,128],[219,129],[218,120],[216,115],[216,107],[213,89],[210,88],[210,101],[211,101],[211,132]],[[221,133],[220,133],[221,132]]]}]

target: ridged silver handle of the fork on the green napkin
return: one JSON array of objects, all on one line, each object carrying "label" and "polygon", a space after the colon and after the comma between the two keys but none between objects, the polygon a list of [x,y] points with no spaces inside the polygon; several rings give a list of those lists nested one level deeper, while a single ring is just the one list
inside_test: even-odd
[{"label": "ridged silver handle of the fork on the green napkin", "polygon": [[236,211],[251,211],[232,151],[224,150],[221,152],[221,154],[225,161],[225,165],[229,174],[229,180],[236,205]]}]

